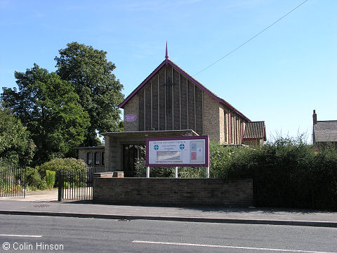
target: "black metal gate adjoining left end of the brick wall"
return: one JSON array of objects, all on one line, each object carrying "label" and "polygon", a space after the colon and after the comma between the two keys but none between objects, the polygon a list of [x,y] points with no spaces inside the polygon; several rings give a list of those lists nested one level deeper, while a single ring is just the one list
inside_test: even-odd
[{"label": "black metal gate adjoining left end of the brick wall", "polygon": [[58,201],[92,200],[93,174],[100,172],[98,167],[86,167],[74,171],[60,171],[58,174]]}]

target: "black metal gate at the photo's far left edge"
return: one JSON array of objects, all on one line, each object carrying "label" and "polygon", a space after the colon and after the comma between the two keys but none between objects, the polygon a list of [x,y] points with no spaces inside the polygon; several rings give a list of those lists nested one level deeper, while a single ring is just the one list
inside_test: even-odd
[{"label": "black metal gate at the photo's far left edge", "polygon": [[0,168],[0,197],[25,197],[25,168]]}]

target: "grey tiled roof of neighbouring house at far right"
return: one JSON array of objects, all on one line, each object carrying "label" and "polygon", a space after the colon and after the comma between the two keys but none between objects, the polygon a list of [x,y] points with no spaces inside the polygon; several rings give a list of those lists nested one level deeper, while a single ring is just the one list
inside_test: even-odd
[{"label": "grey tiled roof of neighbouring house at far right", "polygon": [[314,124],[315,141],[337,141],[337,120],[317,121]]}]

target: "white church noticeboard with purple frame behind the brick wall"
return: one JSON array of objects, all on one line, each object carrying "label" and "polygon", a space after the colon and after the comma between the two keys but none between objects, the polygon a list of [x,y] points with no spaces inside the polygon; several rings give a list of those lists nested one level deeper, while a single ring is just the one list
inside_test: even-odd
[{"label": "white church noticeboard with purple frame behind the brick wall", "polygon": [[209,167],[209,136],[147,138],[147,167]]}]

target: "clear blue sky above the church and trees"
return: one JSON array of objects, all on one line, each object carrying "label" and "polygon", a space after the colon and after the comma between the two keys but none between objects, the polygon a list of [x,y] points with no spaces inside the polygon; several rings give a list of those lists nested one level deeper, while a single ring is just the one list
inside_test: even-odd
[{"label": "clear blue sky above the church and trees", "polygon": [[[225,56],[304,0],[0,0],[0,86],[37,63],[55,71],[60,48],[77,41],[107,51],[124,95],[169,58],[191,75]],[[337,1],[309,0],[248,44],[197,74],[201,84],[267,138],[312,131],[337,119]],[[1,89],[2,92],[2,89]]]}]

